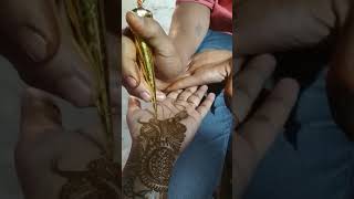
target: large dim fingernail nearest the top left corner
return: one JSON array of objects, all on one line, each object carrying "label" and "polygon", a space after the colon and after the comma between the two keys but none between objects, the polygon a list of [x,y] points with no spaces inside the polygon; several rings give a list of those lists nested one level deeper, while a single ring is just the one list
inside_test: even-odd
[{"label": "large dim fingernail nearest the top left corner", "polygon": [[33,62],[42,62],[48,56],[46,40],[30,27],[22,27],[20,29],[19,45]]}]

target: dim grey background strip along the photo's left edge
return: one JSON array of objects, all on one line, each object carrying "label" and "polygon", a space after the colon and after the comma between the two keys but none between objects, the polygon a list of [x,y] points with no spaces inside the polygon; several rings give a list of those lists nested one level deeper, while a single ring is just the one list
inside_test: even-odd
[{"label": "dim grey background strip along the photo's left edge", "polygon": [[3,199],[23,198],[13,164],[22,87],[23,83],[17,72],[0,56],[0,198]]}]

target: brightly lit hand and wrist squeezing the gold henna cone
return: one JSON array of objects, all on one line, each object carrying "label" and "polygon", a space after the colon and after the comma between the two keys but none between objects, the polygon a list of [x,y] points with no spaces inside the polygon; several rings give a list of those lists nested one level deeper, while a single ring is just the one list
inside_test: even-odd
[{"label": "brightly lit hand and wrist squeezing the gold henna cone", "polygon": [[[195,18],[198,15],[198,18]],[[177,76],[187,70],[191,55],[196,52],[209,29],[210,10],[199,3],[180,3],[177,6],[169,34],[153,19],[139,19],[133,13],[126,14],[133,32],[150,44],[155,52],[157,86],[166,88]],[[136,64],[136,50],[129,36],[122,38],[123,84],[129,94],[145,101],[150,100],[146,83]],[[163,94],[159,92],[160,97]]]}]

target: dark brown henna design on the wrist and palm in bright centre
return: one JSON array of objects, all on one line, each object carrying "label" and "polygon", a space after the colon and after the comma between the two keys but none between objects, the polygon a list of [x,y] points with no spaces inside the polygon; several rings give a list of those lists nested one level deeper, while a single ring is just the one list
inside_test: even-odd
[{"label": "dark brown henna design on the wrist and palm in bright centre", "polygon": [[[171,118],[164,121],[150,118],[142,124],[140,134],[132,159],[126,166],[132,172],[124,177],[123,191],[131,198],[145,198],[146,193],[156,191],[166,193],[174,164],[179,155],[186,137],[186,126],[180,121],[188,117],[181,111]],[[133,164],[132,164],[133,163]],[[139,180],[149,190],[135,192],[134,185]]]}]

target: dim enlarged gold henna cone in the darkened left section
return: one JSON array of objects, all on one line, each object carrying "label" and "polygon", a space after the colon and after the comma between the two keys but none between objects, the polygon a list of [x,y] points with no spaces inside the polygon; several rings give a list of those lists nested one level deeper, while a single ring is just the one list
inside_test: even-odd
[{"label": "dim enlarged gold henna cone in the darkened left section", "polygon": [[105,133],[105,149],[114,159],[114,134],[110,100],[110,70],[106,53],[104,1],[64,0],[73,38],[94,76],[95,105]]}]

